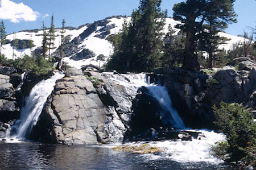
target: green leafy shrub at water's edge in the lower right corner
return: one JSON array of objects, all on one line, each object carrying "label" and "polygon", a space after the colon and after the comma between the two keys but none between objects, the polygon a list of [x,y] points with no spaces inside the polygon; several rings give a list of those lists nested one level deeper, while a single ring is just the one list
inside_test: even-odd
[{"label": "green leafy shrub at water's edge in the lower right corner", "polygon": [[245,164],[256,166],[256,123],[253,114],[237,103],[221,102],[213,106],[217,121],[214,122],[226,135],[227,142],[218,143],[216,154],[230,155],[231,161],[243,160]]}]

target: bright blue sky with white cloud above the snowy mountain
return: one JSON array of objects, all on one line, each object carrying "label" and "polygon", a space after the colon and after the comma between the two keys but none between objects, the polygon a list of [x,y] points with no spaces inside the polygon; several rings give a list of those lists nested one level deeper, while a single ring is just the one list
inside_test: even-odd
[{"label": "bright blue sky with white cloud above the snowy mountain", "polygon": [[[162,0],[162,9],[168,10],[172,16],[172,7],[181,0]],[[44,20],[47,27],[51,15],[55,17],[55,27],[78,27],[85,23],[93,23],[112,15],[130,15],[139,6],[139,0],[1,0],[0,20],[5,22],[7,33],[42,27]],[[238,23],[229,26],[225,31],[231,35],[242,34],[248,26],[256,26],[256,1],[237,0],[235,11]]]}]

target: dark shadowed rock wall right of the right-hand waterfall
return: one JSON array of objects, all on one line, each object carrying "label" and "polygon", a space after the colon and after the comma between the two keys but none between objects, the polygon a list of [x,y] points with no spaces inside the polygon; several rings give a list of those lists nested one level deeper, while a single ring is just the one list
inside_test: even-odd
[{"label": "dark shadowed rock wall right of the right-hand waterfall", "polygon": [[189,127],[212,128],[212,106],[220,102],[256,109],[256,67],[236,71],[226,66],[213,74],[169,68],[152,77],[168,87],[174,106]]}]

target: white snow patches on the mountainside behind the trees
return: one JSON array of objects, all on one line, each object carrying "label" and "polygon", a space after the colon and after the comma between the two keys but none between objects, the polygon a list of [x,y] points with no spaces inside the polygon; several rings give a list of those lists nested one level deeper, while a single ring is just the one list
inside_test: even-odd
[{"label": "white snow patches on the mountainside behind the trees", "polygon": [[[96,61],[96,58],[100,54],[102,54],[108,58],[113,52],[113,45],[110,42],[108,42],[108,40],[106,40],[106,38],[111,34],[117,34],[119,31],[121,31],[122,24],[123,24],[124,20],[126,20],[126,22],[130,22],[131,17],[129,16],[127,18],[124,18],[123,16],[113,16],[113,17],[110,17],[105,20],[107,21],[106,22],[107,24],[105,24],[105,26],[96,27],[96,30],[94,30],[90,35],[86,36],[86,38],[81,39],[81,42],[79,42],[79,45],[77,45],[77,48],[79,48],[79,52],[81,52],[83,49],[86,48],[86,49],[89,49],[90,51],[94,52],[96,54],[96,56],[92,57],[90,59],[82,59],[82,60],[78,60],[78,61],[70,59],[72,56],[74,56],[74,54],[66,56],[64,58],[64,61],[67,62],[71,67],[81,68],[82,65],[86,65],[86,64],[99,65],[99,61]],[[178,23],[180,23],[180,22],[176,21],[172,18],[166,18],[166,25],[163,28],[163,32],[167,33],[168,26],[170,24],[171,24],[172,28],[174,28],[175,25]],[[112,24],[114,24],[114,28],[110,28],[109,35],[106,35],[106,37],[103,39],[96,37],[96,35],[100,35],[102,32],[104,33],[104,31],[100,31],[102,28],[111,26]],[[66,29],[64,35],[69,36],[69,38],[70,38],[69,43],[72,43],[72,40],[74,40],[75,38],[79,38],[79,36],[83,32],[87,31],[89,28],[90,28],[89,24],[86,24],[84,26],[81,26],[81,27],[73,29],[73,30]],[[175,34],[177,34],[177,32],[179,31],[176,28],[174,28],[174,30],[176,31]],[[46,31],[48,31],[48,30],[46,30]],[[54,43],[55,43],[56,48],[53,49],[51,51],[51,53],[56,51],[56,49],[60,45],[60,35],[61,35],[60,31],[61,31],[60,29],[55,30],[56,39],[55,39]],[[39,48],[42,46],[42,39],[43,39],[42,34],[43,34],[42,30],[40,30],[38,32],[20,31],[20,32],[17,32],[16,34],[7,35],[6,39],[8,39],[10,41],[14,40],[15,38],[20,39],[20,40],[32,40],[33,44],[35,45],[34,47],[32,47],[32,51],[34,51],[36,48]],[[225,50],[229,50],[232,47],[232,44],[237,43],[237,42],[243,42],[243,40],[244,40],[242,37],[229,35],[224,32],[220,32],[219,35],[230,39],[228,42],[226,42],[226,44],[220,45],[219,46],[220,49],[224,48]],[[22,57],[25,54],[31,55],[31,50],[28,48],[16,49],[13,46],[11,46],[10,43],[3,45],[2,53],[5,54],[7,59],[13,59],[13,52],[15,53],[14,59],[16,59],[18,57]],[[101,62],[101,65],[103,63],[104,62]]]}]

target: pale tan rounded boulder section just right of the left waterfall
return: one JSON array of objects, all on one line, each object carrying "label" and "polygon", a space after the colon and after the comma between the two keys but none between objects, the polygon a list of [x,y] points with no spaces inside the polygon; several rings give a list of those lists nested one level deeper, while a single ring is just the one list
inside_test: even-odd
[{"label": "pale tan rounded boulder section just right of the left waterfall", "polygon": [[[86,77],[69,76],[57,81],[41,115],[42,140],[63,144],[98,144],[104,139],[105,106]],[[101,134],[101,135],[99,135]],[[101,138],[101,137],[102,138]],[[48,141],[47,141],[48,140]]]}]

